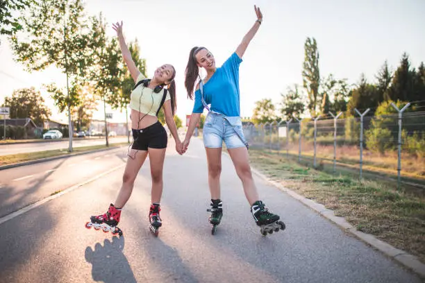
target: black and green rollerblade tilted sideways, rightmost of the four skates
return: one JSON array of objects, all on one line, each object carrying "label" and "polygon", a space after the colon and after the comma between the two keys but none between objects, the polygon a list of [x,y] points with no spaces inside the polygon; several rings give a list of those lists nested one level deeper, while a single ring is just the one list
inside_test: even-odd
[{"label": "black and green rollerblade tilted sideways, rightmost of the four skates", "polygon": [[267,233],[272,234],[279,230],[285,230],[285,223],[279,221],[278,215],[269,212],[269,209],[265,207],[261,200],[257,200],[251,206],[251,214],[257,225],[260,226],[260,232],[263,236],[267,236]]}]

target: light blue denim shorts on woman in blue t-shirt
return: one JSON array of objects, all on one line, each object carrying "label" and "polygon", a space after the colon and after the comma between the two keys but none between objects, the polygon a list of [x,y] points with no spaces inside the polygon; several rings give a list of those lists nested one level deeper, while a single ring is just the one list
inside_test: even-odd
[{"label": "light blue denim shorts on woman in blue t-shirt", "polygon": [[[235,131],[238,131],[240,136]],[[227,148],[245,147],[246,140],[240,117],[224,119],[223,114],[208,112],[203,123],[203,144],[206,148],[221,148],[223,141]]]}]

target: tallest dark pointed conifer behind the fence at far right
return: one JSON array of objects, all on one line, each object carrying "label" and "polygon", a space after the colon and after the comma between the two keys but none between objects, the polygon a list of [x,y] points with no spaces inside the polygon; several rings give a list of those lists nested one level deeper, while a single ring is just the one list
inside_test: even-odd
[{"label": "tallest dark pointed conifer behind the fence at far right", "polygon": [[388,89],[387,100],[414,101],[415,100],[415,69],[410,69],[409,56],[403,53],[400,66],[394,72],[391,86]]}]

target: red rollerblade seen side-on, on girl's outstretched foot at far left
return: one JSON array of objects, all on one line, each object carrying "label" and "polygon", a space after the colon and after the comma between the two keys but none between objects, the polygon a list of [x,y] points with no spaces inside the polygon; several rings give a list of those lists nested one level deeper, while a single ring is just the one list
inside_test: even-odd
[{"label": "red rollerblade seen side-on, on girl's outstretched foot at far left", "polygon": [[94,228],[94,230],[102,230],[105,233],[111,232],[113,235],[118,234],[122,236],[122,230],[117,227],[119,217],[121,216],[121,209],[115,208],[111,203],[106,214],[99,216],[91,216],[90,222],[85,223],[85,228]]}]

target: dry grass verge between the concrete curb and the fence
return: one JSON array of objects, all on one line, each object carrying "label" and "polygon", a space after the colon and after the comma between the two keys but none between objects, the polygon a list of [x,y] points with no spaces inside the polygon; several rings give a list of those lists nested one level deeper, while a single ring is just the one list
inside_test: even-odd
[{"label": "dry grass verge between the concrete curb and the fence", "polygon": [[425,191],[397,191],[385,182],[334,176],[268,151],[250,149],[249,155],[251,164],[269,178],[425,263]]}]

